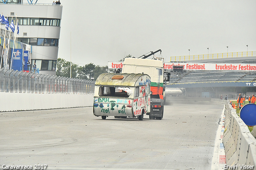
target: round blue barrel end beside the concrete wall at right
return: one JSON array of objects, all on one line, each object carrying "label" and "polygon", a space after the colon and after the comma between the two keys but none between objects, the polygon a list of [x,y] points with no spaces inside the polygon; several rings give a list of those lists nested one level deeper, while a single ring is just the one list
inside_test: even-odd
[{"label": "round blue barrel end beside the concrete wall at right", "polygon": [[256,105],[248,103],[240,110],[240,118],[248,126],[256,125]]}]

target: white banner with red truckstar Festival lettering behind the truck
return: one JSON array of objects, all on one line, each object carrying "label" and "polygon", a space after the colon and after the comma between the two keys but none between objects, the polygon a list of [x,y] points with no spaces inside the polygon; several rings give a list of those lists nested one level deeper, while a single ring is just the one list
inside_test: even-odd
[{"label": "white banner with red truckstar Festival lettering behind the truck", "polygon": [[[212,70],[212,71],[256,71],[256,64],[240,63],[164,63],[164,69],[172,70],[174,65],[183,65],[184,70]],[[122,62],[108,62],[108,69],[122,68]]]}]

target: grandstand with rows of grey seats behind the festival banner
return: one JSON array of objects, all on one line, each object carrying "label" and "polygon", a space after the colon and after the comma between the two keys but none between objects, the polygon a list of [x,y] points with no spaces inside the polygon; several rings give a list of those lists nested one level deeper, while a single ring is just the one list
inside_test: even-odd
[{"label": "grandstand with rows of grey seats behind the festival banner", "polygon": [[[208,59],[208,57],[204,57],[204,59],[199,59],[199,57],[192,57],[193,60],[188,61],[170,61],[170,64],[179,63],[186,66],[187,63],[198,63],[199,64],[233,64],[233,65],[242,65],[242,64],[256,64],[256,53],[252,51],[251,54],[253,56],[243,56],[243,57],[227,57],[228,55],[219,55],[226,56],[224,58],[215,58]],[[174,57],[171,57],[171,59]],[[178,58],[178,57],[175,57]],[[180,57],[182,58],[182,57]],[[184,57],[185,59],[186,57]],[[190,57],[188,57],[190,58]],[[195,59],[199,60],[195,60]],[[206,58],[206,59],[205,59]],[[167,72],[170,73],[170,83],[166,85],[166,87],[180,87],[186,88],[186,91],[191,91],[194,93],[195,91],[200,94],[210,91],[210,93],[214,93],[214,96],[218,97],[223,95],[218,93],[218,91],[223,92],[223,87],[226,87],[225,91],[227,93],[231,93],[236,96],[237,93],[254,93],[256,91],[256,70],[250,71],[237,71],[237,70],[189,70],[184,69],[181,72],[174,72],[172,69],[167,69]],[[204,87],[204,89],[202,88]],[[207,88],[206,88],[207,87]],[[232,87],[232,90],[230,90]],[[235,89],[234,89],[235,87]],[[242,87],[245,87],[246,90],[242,90]],[[190,89],[191,88],[191,89]]]}]

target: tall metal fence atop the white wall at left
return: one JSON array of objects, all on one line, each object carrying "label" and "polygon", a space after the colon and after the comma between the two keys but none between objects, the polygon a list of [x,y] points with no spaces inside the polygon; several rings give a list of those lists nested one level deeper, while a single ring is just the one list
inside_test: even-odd
[{"label": "tall metal fence atop the white wall at left", "polygon": [[10,93],[92,94],[95,81],[0,69],[0,91]]}]

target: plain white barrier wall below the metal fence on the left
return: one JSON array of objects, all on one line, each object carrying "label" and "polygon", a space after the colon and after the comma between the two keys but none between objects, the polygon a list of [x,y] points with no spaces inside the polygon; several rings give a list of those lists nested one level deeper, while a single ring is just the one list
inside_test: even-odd
[{"label": "plain white barrier wall below the metal fence on the left", "polygon": [[92,105],[93,95],[0,92],[0,112],[88,107]]}]

